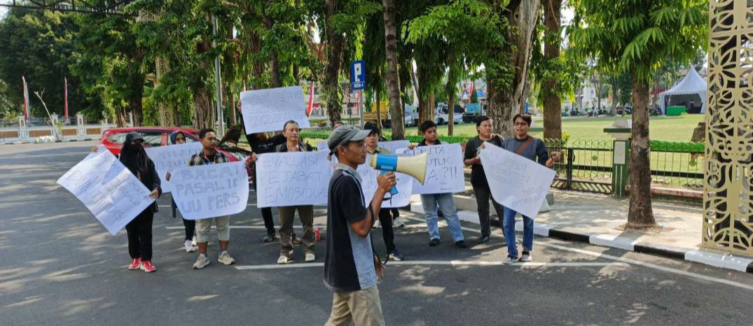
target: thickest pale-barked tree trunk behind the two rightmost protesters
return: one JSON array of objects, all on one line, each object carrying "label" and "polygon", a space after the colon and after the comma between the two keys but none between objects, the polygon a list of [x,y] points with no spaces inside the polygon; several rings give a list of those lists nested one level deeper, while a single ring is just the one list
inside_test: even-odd
[{"label": "thickest pale-barked tree trunk behind the two rightmost protesters", "polygon": [[[505,87],[503,72],[495,72],[494,76],[487,78],[492,83],[487,88],[496,88],[497,94],[494,99],[489,97],[489,117],[494,120],[495,133],[508,138],[513,136],[512,117],[517,114],[524,105],[526,99],[526,79],[531,53],[531,43],[535,35],[536,23],[538,22],[538,9],[541,5],[539,0],[512,0],[508,3],[505,15],[510,22],[505,39],[510,42],[503,51],[507,56],[509,66],[514,68],[511,87]],[[501,56],[501,57],[505,57]],[[495,85],[492,85],[495,84]],[[491,93],[487,90],[488,93]],[[490,95],[490,94],[489,94]]]}]

